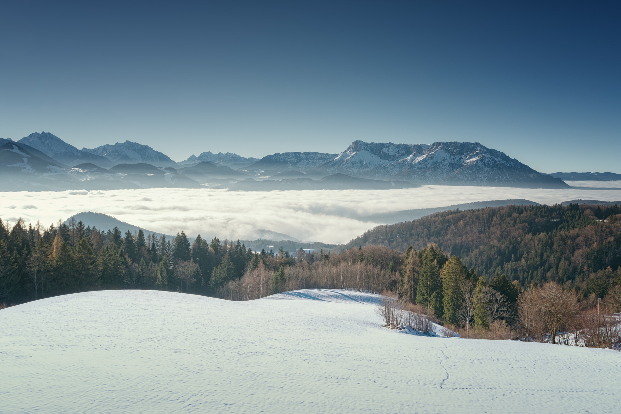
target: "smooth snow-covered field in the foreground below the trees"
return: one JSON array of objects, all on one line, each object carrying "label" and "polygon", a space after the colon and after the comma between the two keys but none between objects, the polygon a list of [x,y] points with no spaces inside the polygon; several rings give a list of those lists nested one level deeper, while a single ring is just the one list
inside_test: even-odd
[{"label": "smooth snow-covered field in the foreground below the trees", "polygon": [[6,308],[0,412],[619,412],[617,351],[398,333],[376,299],[107,290]]}]

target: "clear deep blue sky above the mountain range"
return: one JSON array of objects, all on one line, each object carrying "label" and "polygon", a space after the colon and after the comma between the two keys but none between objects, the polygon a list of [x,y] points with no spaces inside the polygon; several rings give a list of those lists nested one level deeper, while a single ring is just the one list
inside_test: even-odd
[{"label": "clear deep blue sky above the mountain range", "polygon": [[130,3],[0,3],[0,137],[176,161],[455,140],[621,173],[619,2]]}]

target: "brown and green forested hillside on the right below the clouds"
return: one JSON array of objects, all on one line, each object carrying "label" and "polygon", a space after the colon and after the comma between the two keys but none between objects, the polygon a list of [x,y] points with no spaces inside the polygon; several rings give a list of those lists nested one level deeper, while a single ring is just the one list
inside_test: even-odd
[{"label": "brown and green forested hillside on the right below the clouds", "polygon": [[499,272],[522,286],[582,284],[594,272],[619,268],[620,213],[619,205],[584,204],[453,210],[378,226],[345,248],[381,245],[405,251],[410,245],[421,250],[435,243],[487,280]]}]

